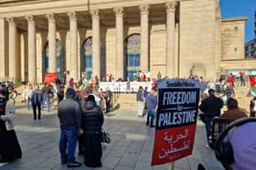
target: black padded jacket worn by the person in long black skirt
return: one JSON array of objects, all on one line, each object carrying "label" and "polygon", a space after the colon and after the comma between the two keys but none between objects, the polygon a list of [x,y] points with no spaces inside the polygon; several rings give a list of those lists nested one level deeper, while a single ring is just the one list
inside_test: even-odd
[{"label": "black padded jacket worn by the person in long black skirt", "polygon": [[93,135],[101,133],[103,124],[103,112],[95,101],[81,101],[81,126],[85,134]]}]

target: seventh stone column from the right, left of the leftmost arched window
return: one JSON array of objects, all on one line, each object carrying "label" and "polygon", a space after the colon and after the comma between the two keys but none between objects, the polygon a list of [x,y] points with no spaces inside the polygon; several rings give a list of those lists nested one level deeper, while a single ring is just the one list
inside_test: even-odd
[{"label": "seventh stone column from the right, left of the leftmost arched window", "polygon": [[37,55],[36,55],[36,22],[33,16],[27,16],[28,24],[28,81],[37,81]]}]

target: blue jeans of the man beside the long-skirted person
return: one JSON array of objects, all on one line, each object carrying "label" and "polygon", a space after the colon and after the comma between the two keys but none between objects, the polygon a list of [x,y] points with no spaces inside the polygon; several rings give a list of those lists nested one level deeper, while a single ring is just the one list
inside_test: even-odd
[{"label": "blue jeans of the man beside the long-skirted person", "polygon": [[[78,130],[76,127],[60,128],[59,152],[61,162],[72,163],[76,160],[75,151],[77,147]],[[67,154],[68,145],[68,154]]]}]

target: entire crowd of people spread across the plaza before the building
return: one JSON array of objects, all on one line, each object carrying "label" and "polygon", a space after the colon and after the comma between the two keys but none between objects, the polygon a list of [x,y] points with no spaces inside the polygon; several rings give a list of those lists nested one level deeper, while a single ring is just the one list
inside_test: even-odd
[{"label": "entire crowd of people spread across the plaza before the building", "polygon": [[[141,79],[141,78],[140,78]],[[162,79],[160,71],[157,79]],[[165,77],[165,79],[167,79]],[[190,75],[188,79],[197,80],[200,84],[199,112],[204,115],[206,124],[208,148],[212,148],[212,121],[216,117],[226,118],[229,123],[243,117],[248,117],[246,111],[239,108],[235,99],[234,79],[229,74],[226,80],[219,79],[209,82],[202,77]],[[241,81],[244,74],[240,74]],[[106,80],[114,80],[108,75]],[[66,80],[65,80],[66,81]],[[81,163],[76,161],[75,150],[79,143],[79,154],[84,156],[84,164],[89,167],[101,167],[101,127],[104,122],[103,110],[111,112],[112,91],[100,89],[100,79],[95,76],[87,80],[83,75],[79,82],[70,79],[57,83],[55,89],[51,83],[43,87],[38,84],[27,84],[23,96],[26,99],[27,110],[33,109],[33,119],[41,120],[41,111],[45,108],[50,112],[53,99],[57,99],[56,107],[60,123],[59,153],[61,164],[68,167],[78,167]],[[127,83],[130,80],[127,80]],[[16,138],[13,122],[16,118],[15,99],[18,95],[13,85],[0,84],[0,165],[5,165],[22,157],[21,147]],[[241,82],[241,87],[245,83]],[[129,87],[128,87],[129,88]],[[225,96],[225,98],[224,98]],[[157,80],[152,81],[152,89],[139,87],[136,93],[139,118],[146,117],[145,124],[155,127],[157,114]],[[225,103],[227,101],[227,103]],[[256,97],[250,103],[250,116],[255,117]],[[227,104],[227,111],[221,114],[223,105]],[[11,148],[11,149],[10,149]]]}]

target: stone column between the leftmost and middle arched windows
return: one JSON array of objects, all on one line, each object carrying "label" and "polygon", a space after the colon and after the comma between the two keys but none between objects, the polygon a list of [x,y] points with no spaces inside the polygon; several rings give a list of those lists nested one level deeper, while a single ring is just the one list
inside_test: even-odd
[{"label": "stone column between the leftmost and middle arched windows", "polygon": [[78,24],[77,24],[77,16],[75,12],[71,12],[69,15],[69,27],[70,27],[70,62],[71,66],[69,76],[73,78],[75,81],[79,80],[78,73]]}]

